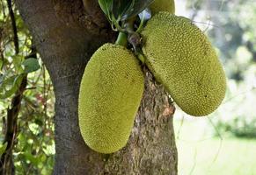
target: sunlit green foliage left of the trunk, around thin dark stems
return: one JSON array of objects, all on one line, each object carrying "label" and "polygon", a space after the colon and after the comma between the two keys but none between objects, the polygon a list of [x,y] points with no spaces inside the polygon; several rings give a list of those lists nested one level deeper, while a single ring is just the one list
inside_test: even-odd
[{"label": "sunlit green foliage left of the trunk, around thin dark stems", "polygon": [[18,53],[6,1],[1,1],[0,9],[0,153],[2,156],[7,146],[7,110],[11,109],[11,99],[18,94],[22,79],[27,77],[12,148],[13,162],[16,174],[50,174],[55,154],[52,84],[39,55],[30,56],[33,40],[16,7],[12,6],[18,29]]}]

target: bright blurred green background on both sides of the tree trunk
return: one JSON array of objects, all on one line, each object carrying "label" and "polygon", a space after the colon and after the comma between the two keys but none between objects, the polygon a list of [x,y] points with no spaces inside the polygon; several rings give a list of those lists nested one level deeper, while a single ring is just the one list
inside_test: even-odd
[{"label": "bright blurred green background on both sides of the tree trunk", "polygon": [[[13,92],[18,89],[23,58],[33,53],[33,40],[18,11],[19,53],[12,44],[8,5],[0,6],[0,132]],[[176,110],[174,129],[180,175],[256,175],[256,1],[177,0],[176,14],[190,18],[215,45],[228,77],[223,104],[208,117],[194,118]],[[39,55],[35,55],[39,57]],[[5,59],[4,59],[5,58]],[[29,65],[29,64],[28,64]],[[17,174],[50,174],[54,164],[55,96],[48,72],[29,73],[28,89],[18,116],[14,147]],[[36,67],[30,67],[30,70]],[[4,135],[0,135],[3,143]],[[5,144],[0,144],[0,154]]]}]

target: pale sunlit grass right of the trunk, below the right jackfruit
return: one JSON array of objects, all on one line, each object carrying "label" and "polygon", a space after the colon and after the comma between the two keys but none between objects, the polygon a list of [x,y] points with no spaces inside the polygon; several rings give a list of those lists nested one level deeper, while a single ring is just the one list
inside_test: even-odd
[{"label": "pale sunlit grass right of the trunk, below the right jackfruit", "polygon": [[179,175],[256,175],[256,139],[214,137],[208,118],[174,120]]}]

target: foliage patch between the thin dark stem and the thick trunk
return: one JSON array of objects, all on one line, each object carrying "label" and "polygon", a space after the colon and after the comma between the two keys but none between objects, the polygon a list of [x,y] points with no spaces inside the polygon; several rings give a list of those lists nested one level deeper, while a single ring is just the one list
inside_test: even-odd
[{"label": "foliage patch between the thin dark stem and the thick trunk", "polygon": [[44,66],[28,77],[18,117],[18,143],[14,150],[17,173],[49,174],[54,165],[54,95]]}]

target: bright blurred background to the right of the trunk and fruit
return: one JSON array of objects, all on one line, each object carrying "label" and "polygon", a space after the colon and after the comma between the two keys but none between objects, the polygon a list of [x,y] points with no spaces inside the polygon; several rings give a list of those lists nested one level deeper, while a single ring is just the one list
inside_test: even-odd
[{"label": "bright blurred background to the right of the trunk and fruit", "polygon": [[216,47],[228,77],[212,115],[174,116],[180,175],[256,174],[256,1],[177,0]]}]

